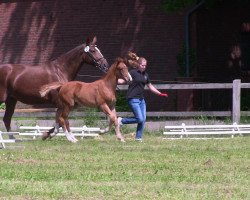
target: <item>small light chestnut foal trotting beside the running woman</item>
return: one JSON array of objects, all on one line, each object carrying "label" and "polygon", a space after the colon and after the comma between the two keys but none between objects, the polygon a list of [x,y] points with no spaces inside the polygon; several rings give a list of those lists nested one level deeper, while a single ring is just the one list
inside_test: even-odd
[{"label": "small light chestnut foal trotting beside the running woman", "polygon": [[116,87],[117,81],[120,78],[125,81],[132,80],[125,64],[125,60],[122,58],[116,58],[107,74],[92,83],[71,81],[64,84],[55,82],[44,85],[40,90],[41,96],[46,97],[51,90],[57,89],[59,91],[58,98],[61,107],[58,108],[56,115],[56,124],[58,124],[57,129],[55,129],[53,135],[45,133],[43,139],[57,134],[59,126],[62,126],[67,139],[71,142],[77,142],[77,139],[70,131],[68,116],[70,111],[74,108],[74,105],[78,104],[87,107],[100,108],[109,118],[109,126],[105,129],[105,132],[109,131],[114,123],[117,139],[124,142],[124,137],[120,132],[115,111]]}]

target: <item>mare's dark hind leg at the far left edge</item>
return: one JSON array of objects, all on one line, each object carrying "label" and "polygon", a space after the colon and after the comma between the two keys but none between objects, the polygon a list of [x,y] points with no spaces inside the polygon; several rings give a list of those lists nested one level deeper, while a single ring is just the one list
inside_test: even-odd
[{"label": "mare's dark hind leg at the far left edge", "polygon": [[[5,128],[6,128],[6,130],[8,132],[11,131],[11,127],[10,127],[11,118],[12,118],[12,116],[14,114],[16,103],[17,103],[17,100],[12,98],[12,97],[7,97],[7,99],[5,101],[6,110],[5,110],[5,113],[4,113],[3,122],[4,122],[4,125],[5,125]],[[10,134],[9,138],[10,139],[15,139],[13,134]]]}]

